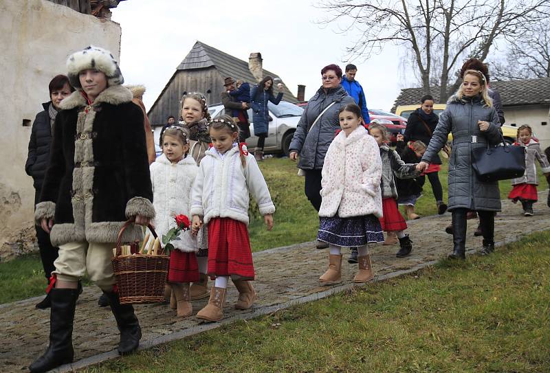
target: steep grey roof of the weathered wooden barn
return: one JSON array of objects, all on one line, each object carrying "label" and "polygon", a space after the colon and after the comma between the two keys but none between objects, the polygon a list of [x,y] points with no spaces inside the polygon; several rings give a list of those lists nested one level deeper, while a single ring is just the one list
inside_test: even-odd
[{"label": "steep grey roof of the weathered wooden barn", "polygon": [[[252,76],[252,73],[248,69],[248,62],[239,60],[239,58],[231,56],[225,52],[221,52],[221,50],[210,47],[210,45],[206,45],[200,41],[197,41],[197,43],[193,45],[191,51],[186,58],[181,61],[177,69],[204,69],[212,66],[216,67],[223,77],[230,76],[234,80],[241,79],[249,82],[251,85],[256,84],[256,79]],[[271,71],[263,69],[263,76],[268,75],[274,78],[281,78],[278,74],[274,74]],[[289,91],[288,87],[286,87],[286,84],[285,89],[283,90],[283,100],[289,102],[298,101],[292,92]]]}]

